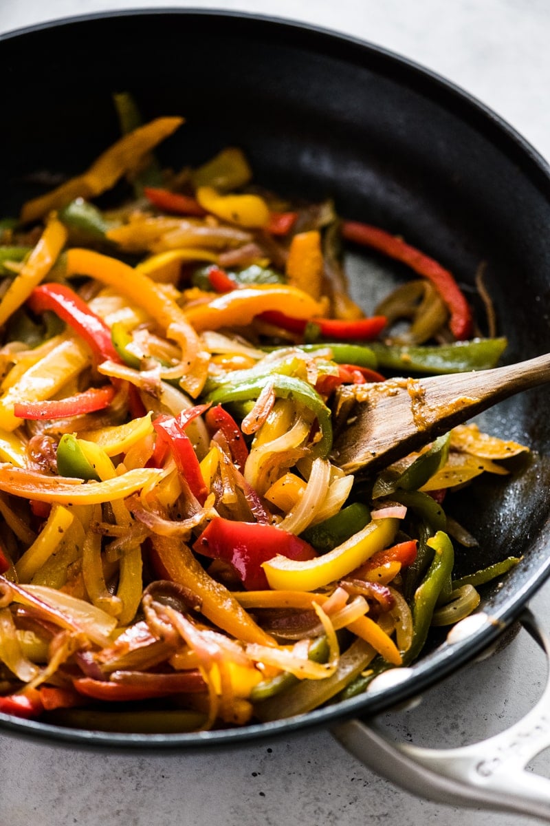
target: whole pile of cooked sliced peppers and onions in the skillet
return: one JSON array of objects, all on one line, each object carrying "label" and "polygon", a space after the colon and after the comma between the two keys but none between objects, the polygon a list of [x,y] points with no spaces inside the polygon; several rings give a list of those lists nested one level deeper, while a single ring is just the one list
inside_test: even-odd
[{"label": "whole pile of cooked sliced peppers and onions in the skillet", "polygon": [[[505,339],[401,238],[263,191],[235,148],[162,169],[182,119],[115,104],[120,140],[0,222],[0,712],[138,732],[303,714],[412,662],[518,562],[477,570],[444,505],[524,447],[463,425],[355,478],[331,455],[339,388],[490,368]],[[410,276],[373,316],[352,248]]]}]

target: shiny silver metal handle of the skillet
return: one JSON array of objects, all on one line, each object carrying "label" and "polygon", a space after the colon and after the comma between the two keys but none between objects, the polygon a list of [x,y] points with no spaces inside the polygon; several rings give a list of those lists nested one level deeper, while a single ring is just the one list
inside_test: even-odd
[{"label": "shiny silver metal handle of the skillet", "polygon": [[[519,618],[550,661],[550,641],[529,610]],[[550,672],[550,668],[548,669]],[[525,771],[550,746],[550,673],[543,696],[517,723],[462,748],[418,748],[394,743],[371,721],[332,729],[365,766],[416,796],[448,805],[528,814],[550,823],[550,780]]]}]

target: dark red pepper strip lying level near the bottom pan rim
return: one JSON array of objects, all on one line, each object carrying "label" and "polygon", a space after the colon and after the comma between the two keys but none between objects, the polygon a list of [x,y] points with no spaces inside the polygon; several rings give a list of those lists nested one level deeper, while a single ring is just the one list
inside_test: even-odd
[{"label": "dark red pepper strip lying level near the bottom pan rim", "polygon": [[83,676],[73,680],[73,686],[79,694],[93,697],[94,700],[108,700],[109,702],[111,700],[115,702],[148,700],[169,694],[206,691],[206,684],[198,668],[178,674],[144,673],[139,682],[94,680],[90,676]]}]

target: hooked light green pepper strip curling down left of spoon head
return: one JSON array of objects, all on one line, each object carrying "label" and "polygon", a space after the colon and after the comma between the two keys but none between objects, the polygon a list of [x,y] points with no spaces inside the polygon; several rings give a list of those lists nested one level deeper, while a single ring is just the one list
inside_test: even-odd
[{"label": "hooked light green pepper strip curling down left of spoon head", "polygon": [[210,392],[206,396],[206,401],[211,401],[213,405],[217,405],[227,404],[231,401],[257,399],[267,381],[272,383],[275,396],[278,398],[295,399],[313,411],[317,416],[319,429],[321,430],[321,439],[314,445],[313,455],[322,458],[327,456],[332,446],[331,411],[322,401],[322,397],[319,396],[317,391],[300,378],[284,376],[282,373],[271,373],[267,377],[256,377],[248,382],[238,383],[236,387],[223,385]]}]

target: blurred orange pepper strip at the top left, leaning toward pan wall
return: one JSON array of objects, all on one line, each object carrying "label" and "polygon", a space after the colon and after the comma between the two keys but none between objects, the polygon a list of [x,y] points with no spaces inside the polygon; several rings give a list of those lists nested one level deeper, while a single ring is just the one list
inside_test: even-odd
[{"label": "blurred orange pepper strip at the top left, leaning toward pan wall", "polygon": [[172,135],[183,122],[181,117],[158,117],[124,135],[103,152],[85,173],[45,195],[27,201],[21,210],[21,223],[38,221],[49,211],[60,209],[75,198],[89,199],[106,192],[123,175],[138,169],[143,156]]}]

